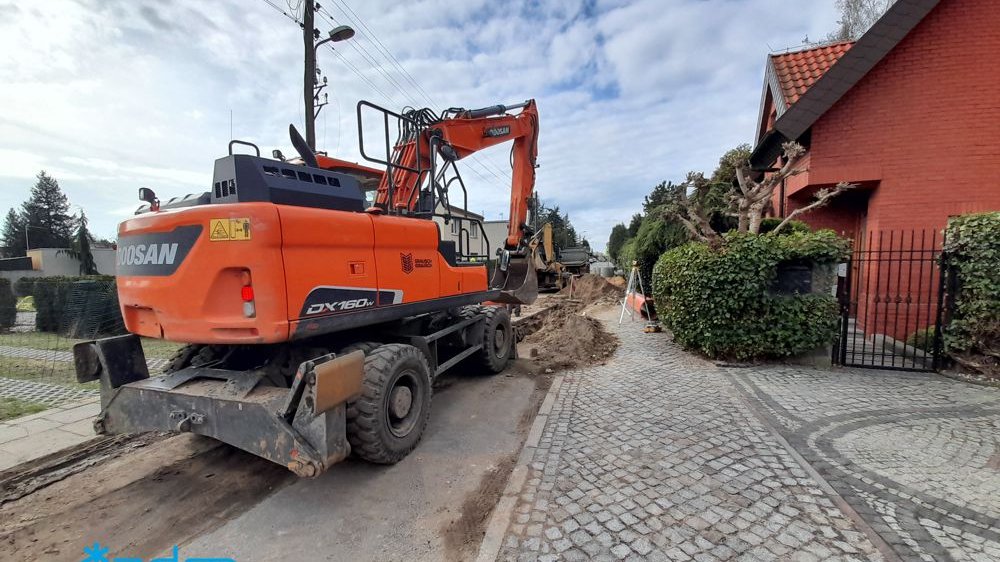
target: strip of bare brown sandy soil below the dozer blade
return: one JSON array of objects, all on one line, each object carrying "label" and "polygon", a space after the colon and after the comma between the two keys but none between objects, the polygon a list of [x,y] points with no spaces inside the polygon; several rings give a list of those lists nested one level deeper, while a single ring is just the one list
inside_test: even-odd
[{"label": "strip of bare brown sandy soil below the dozer blade", "polygon": [[[216,441],[179,435],[0,506],[0,560],[152,556],[206,532],[294,477]],[[113,538],[113,540],[112,540]]]}]

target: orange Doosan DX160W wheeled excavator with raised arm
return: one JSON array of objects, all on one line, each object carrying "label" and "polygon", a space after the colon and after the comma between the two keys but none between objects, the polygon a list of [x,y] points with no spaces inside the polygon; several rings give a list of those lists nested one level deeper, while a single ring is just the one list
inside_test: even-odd
[{"label": "orange Doosan DX160W wheeled excavator with raised arm", "polygon": [[[99,433],[193,432],[316,476],[352,451],[401,460],[435,377],[507,366],[509,307],[538,292],[535,102],[437,115],[362,101],[357,114],[362,156],[384,170],[316,154],[290,126],[298,158],[232,141],[207,192],[161,202],[140,189],[118,229],[130,333],[74,348],[78,380],[101,383]],[[366,143],[373,122],[382,134]],[[452,213],[451,196],[467,206],[460,160],[506,142],[510,228],[487,256],[481,222]],[[452,221],[458,240],[441,233]],[[140,336],[187,345],[153,375]]]}]

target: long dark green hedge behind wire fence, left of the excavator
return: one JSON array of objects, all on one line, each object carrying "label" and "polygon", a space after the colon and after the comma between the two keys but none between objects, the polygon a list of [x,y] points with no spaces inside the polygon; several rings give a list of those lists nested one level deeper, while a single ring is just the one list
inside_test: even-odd
[{"label": "long dark green hedge behind wire fence, left of the excavator", "polygon": [[125,333],[113,276],[36,277],[32,291],[40,332],[75,338]]}]

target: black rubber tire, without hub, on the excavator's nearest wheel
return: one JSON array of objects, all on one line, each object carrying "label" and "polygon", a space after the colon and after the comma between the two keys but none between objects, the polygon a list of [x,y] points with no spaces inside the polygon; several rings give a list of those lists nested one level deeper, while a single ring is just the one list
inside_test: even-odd
[{"label": "black rubber tire, without hub, on the excavator's nearest wheel", "polygon": [[[389,430],[387,402],[399,374],[415,371],[421,410],[403,437]],[[412,406],[411,406],[412,407]],[[416,347],[401,343],[380,345],[365,357],[361,396],[347,405],[347,440],[358,457],[375,464],[395,464],[420,442],[431,411],[431,377],[427,358]]]}]

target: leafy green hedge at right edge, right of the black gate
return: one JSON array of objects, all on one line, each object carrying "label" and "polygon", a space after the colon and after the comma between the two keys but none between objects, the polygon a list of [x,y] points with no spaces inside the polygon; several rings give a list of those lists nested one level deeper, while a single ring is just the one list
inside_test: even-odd
[{"label": "leafy green hedge at right edge, right of the black gate", "polygon": [[966,367],[1000,375],[1000,212],[948,221],[944,252],[955,293],[945,350]]}]

